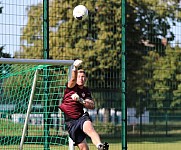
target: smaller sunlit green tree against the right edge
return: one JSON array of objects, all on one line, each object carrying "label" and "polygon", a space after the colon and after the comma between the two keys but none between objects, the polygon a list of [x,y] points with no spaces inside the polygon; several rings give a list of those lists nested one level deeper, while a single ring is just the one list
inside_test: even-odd
[{"label": "smaller sunlit green tree against the right edge", "polygon": [[[166,49],[166,56],[161,57],[155,63],[153,72],[154,92],[152,99],[157,101],[157,108],[176,108],[180,105],[179,79],[181,73],[180,66],[181,48]],[[157,69],[158,68],[158,69]]]}]

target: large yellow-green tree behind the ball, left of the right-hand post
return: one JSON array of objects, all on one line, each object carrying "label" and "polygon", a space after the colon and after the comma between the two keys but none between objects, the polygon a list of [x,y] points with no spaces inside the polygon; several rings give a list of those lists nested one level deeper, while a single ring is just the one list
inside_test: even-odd
[{"label": "large yellow-green tree behind the ball, left of the right-hand post", "polygon": [[[53,59],[84,60],[92,90],[104,89],[95,96],[110,101],[106,93],[120,89],[120,2],[105,5],[101,2],[81,1],[89,8],[89,18],[77,21],[73,8],[80,1],[54,0],[50,2],[50,57]],[[28,23],[22,29],[22,50],[28,58],[42,58],[42,9],[41,5],[28,9]],[[63,7],[62,7],[63,6]],[[61,8],[61,9],[60,9]],[[37,14],[37,17],[34,15]],[[106,16],[109,15],[109,18]],[[54,17],[56,16],[56,17]],[[117,17],[118,16],[118,17]],[[101,20],[100,20],[101,19]],[[34,53],[36,50],[37,53]],[[117,78],[113,77],[113,73]],[[95,84],[96,83],[96,84]],[[116,85],[113,87],[113,85]],[[115,92],[116,92],[115,91]],[[101,93],[101,94],[100,94]],[[111,93],[111,92],[110,92]],[[100,96],[99,96],[100,95]],[[117,94],[118,95],[118,94]],[[119,98],[120,100],[120,98]],[[105,102],[100,106],[106,106]],[[119,105],[120,106],[120,105]]]}]

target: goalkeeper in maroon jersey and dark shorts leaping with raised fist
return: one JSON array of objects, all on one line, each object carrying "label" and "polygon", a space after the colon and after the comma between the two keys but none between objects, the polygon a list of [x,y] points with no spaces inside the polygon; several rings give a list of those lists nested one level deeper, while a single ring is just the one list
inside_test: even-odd
[{"label": "goalkeeper in maroon jersey and dark shorts leaping with raised fist", "polygon": [[59,108],[65,114],[65,123],[69,136],[79,150],[89,150],[86,135],[91,138],[92,143],[98,150],[108,150],[108,143],[101,142],[98,133],[94,130],[88,112],[84,112],[84,107],[94,109],[95,104],[91,92],[84,86],[86,82],[85,71],[82,69],[78,70],[81,64],[82,60],[74,61],[72,77],[67,83]]}]

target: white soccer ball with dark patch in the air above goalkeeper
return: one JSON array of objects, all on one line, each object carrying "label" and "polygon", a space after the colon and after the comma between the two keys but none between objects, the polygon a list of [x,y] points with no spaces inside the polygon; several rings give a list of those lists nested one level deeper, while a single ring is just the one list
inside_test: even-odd
[{"label": "white soccer ball with dark patch in the air above goalkeeper", "polygon": [[77,20],[85,20],[88,16],[88,9],[84,5],[77,5],[73,10],[73,16]]}]

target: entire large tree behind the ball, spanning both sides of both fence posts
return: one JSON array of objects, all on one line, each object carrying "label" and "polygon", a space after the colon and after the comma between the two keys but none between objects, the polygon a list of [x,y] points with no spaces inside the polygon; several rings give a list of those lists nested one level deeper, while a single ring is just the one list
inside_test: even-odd
[{"label": "entire large tree behind the ball, spanning both sides of both fence posts", "polygon": [[[89,18],[76,21],[73,8],[83,4],[89,9]],[[158,9],[162,8],[162,9]],[[50,1],[49,34],[50,57],[53,59],[84,60],[88,71],[88,85],[96,99],[103,100],[99,106],[112,107],[115,99],[120,109],[121,99],[121,1]],[[127,1],[127,103],[135,106],[139,100],[138,91],[143,86],[143,56],[155,50],[165,54],[161,39],[173,40],[170,22],[180,21],[179,3],[171,0],[128,0]],[[168,11],[169,10],[169,11]],[[42,5],[27,9],[28,22],[22,29],[22,51],[27,58],[43,58],[42,49]],[[36,15],[35,15],[36,14]],[[169,21],[168,21],[169,20]],[[134,36],[133,36],[134,35]],[[148,48],[145,41],[154,45]],[[162,48],[160,49],[160,47]],[[36,53],[35,53],[36,52]],[[113,95],[113,96],[112,96]],[[116,96],[115,96],[116,95]],[[114,107],[114,106],[113,106]]]}]

